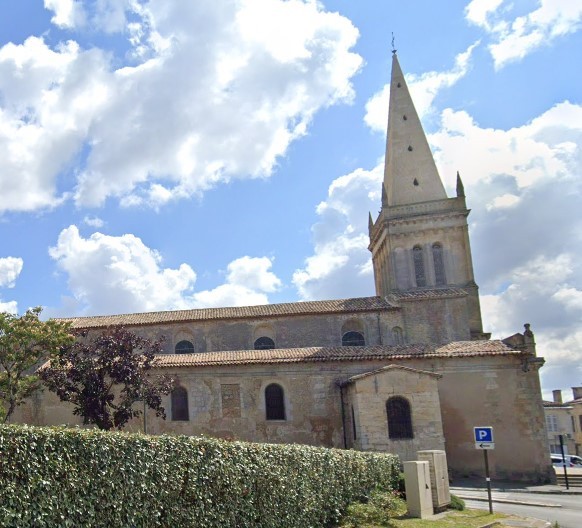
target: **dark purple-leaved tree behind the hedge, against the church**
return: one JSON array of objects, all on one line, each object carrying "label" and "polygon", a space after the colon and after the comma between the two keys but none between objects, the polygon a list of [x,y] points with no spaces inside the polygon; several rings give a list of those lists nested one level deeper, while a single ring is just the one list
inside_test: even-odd
[{"label": "dark purple-leaved tree behind the hedge, against the church", "polygon": [[40,377],[61,401],[73,404],[73,413],[82,416],[83,423],[121,429],[142,414],[134,405],[139,401],[165,419],[161,396],[170,393],[173,380],[150,373],[155,355],[162,351],[160,341],[122,326],[98,335],[83,331],[77,337],[61,348]]}]

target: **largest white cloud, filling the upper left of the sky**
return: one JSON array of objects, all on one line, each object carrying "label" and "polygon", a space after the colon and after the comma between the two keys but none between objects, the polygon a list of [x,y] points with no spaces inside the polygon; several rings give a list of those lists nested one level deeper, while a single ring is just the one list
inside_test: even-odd
[{"label": "largest white cloud, filling the upper left of the sky", "polygon": [[267,177],[315,112],[351,100],[361,64],[356,28],[317,2],[45,5],[63,27],[82,10],[123,31],[133,62],[113,69],[125,59],[106,49],[34,37],[0,48],[0,211],[58,205],[67,174],[82,207],[157,207]]}]

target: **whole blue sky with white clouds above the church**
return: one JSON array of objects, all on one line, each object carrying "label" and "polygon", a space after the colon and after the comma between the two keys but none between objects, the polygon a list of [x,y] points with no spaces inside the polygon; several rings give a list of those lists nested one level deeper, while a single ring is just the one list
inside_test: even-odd
[{"label": "whole blue sky with white clouds above the church", "polygon": [[582,384],[576,0],[4,0],[0,309],[51,316],[373,294],[400,64],[485,329]]}]

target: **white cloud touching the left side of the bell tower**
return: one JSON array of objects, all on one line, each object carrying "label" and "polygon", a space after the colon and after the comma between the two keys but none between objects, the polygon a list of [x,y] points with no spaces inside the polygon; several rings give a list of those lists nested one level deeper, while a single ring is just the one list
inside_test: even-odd
[{"label": "white cloud touching the left side of the bell tower", "polygon": [[367,219],[368,212],[380,205],[382,177],[383,165],[378,165],[331,183],[327,200],[317,207],[314,254],[293,274],[302,299],[373,295]]}]

